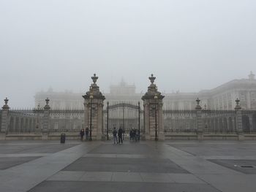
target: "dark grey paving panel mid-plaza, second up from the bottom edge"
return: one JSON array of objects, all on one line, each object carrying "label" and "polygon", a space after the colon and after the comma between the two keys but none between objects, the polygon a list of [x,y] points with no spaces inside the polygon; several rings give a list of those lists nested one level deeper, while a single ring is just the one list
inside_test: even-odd
[{"label": "dark grey paving panel mid-plaza, second up from the bottom edge", "polygon": [[91,158],[82,157],[64,171],[188,173],[167,158]]}]

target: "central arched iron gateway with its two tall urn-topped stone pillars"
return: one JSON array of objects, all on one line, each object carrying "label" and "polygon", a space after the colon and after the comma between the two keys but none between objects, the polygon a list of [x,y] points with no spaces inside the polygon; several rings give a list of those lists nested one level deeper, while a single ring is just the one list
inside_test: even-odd
[{"label": "central arched iron gateway with its two tall urn-topped stone pillars", "polygon": [[[142,97],[143,108],[138,104],[129,104],[126,102],[111,104],[107,102],[106,110],[103,110],[103,101],[105,96],[99,91],[96,84],[98,77],[94,74],[91,79],[93,83],[84,98],[84,125],[89,128],[89,139],[108,139],[112,133],[113,127],[123,128],[126,134],[132,128],[140,132],[140,137],[145,139],[163,140],[163,122],[162,122],[162,99],[164,96],[157,91],[157,85],[154,84],[156,77],[151,74],[148,77],[151,85],[148,91]],[[135,110],[137,112],[135,112]]]}]

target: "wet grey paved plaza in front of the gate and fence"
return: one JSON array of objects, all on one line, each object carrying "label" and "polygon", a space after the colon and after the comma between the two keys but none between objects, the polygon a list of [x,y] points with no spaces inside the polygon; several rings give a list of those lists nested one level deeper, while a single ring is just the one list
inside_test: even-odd
[{"label": "wet grey paved plaza in front of the gate and fence", "polygon": [[0,191],[256,191],[256,141],[1,141]]}]

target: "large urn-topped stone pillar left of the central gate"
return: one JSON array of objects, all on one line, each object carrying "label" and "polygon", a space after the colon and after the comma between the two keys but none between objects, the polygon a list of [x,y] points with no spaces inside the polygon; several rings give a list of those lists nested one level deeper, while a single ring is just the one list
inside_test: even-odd
[{"label": "large urn-topped stone pillar left of the central gate", "polygon": [[105,96],[99,91],[96,84],[98,77],[91,77],[93,83],[84,98],[84,125],[89,128],[89,140],[105,139],[103,134],[103,101]]}]

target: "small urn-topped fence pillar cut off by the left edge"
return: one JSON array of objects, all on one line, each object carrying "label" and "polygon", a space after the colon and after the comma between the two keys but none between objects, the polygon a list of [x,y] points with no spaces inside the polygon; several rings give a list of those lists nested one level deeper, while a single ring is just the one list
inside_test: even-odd
[{"label": "small urn-topped fence pillar cut off by the left edge", "polygon": [[4,106],[1,107],[1,130],[0,130],[0,140],[5,140],[6,134],[7,134],[7,129],[8,129],[8,124],[9,124],[9,109],[10,107],[8,106],[8,99],[4,99]]}]

